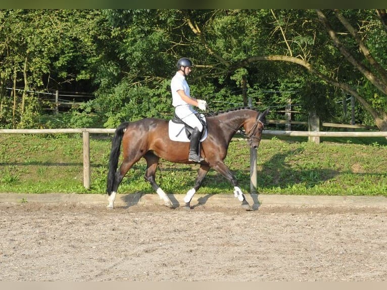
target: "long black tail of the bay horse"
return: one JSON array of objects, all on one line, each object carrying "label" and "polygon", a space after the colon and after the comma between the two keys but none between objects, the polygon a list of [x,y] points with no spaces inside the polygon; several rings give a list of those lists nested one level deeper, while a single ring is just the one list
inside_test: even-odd
[{"label": "long black tail of the bay horse", "polygon": [[117,127],[112,139],[112,149],[110,150],[109,156],[108,185],[106,189],[109,196],[113,191],[116,180],[115,174],[118,167],[118,159],[120,157],[122,136],[124,135],[125,129],[128,125],[129,122],[122,122],[121,125]]}]

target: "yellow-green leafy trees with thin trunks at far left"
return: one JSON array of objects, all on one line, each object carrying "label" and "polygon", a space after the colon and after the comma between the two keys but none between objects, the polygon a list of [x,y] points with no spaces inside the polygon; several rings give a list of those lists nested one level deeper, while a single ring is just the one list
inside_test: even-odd
[{"label": "yellow-green leafy trees with thin trunks at far left", "polygon": [[[0,10],[0,120],[3,127],[36,125],[38,95],[93,77],[104,41],[97,10]],[[12,87],[7,96],[6,87]]]}]

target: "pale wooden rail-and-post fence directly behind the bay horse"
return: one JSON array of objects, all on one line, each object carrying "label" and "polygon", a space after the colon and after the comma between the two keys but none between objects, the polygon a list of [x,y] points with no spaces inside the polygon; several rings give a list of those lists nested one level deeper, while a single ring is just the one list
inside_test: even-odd
[{"label": "pale wooden rail-and-post fence directly behind the bay horse", "polygon": [[[58,134],[82,133],[83,137],[83,186],[90,188],[90,133],[112,134],[115,129],[79,128],[79,129],[0,129],[0,134]],[[387,137],[384,132],[322,132],[322,131],[278,131],[263,130],[263,135],[315,137]],[[316,139],[309,139],[316,141]],[[318,139],[319,141],[319,139]],[[257,150],[250,149],[250,193],[257,193]]]}]

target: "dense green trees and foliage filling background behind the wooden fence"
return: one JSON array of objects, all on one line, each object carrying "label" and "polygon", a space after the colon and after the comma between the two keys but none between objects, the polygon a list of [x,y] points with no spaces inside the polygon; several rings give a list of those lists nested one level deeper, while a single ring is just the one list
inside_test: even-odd
[{"label": "dense green trees and foliage filling background behind the wooden fence", "polygon": [[[282,119],[291,101],[298,121],[318,107],[324,121],[350,122],[343,95],[353,94],[356,122],[387,128],[386,93],[361,70],[382,79],[386,33],[375,10],[0,10],[0,126],[115,127],[169,118],[169,80],[184,56],[196,66],[191,93],[211,111],[246,105],[246,82],[246,95],[262,110],[271,107],[271,118]],[[10,96],[7,87],[20,90]],[[43,116],[42,96],[30,91],[56,89],[95,92],[96,99],[61,117]]]}]

